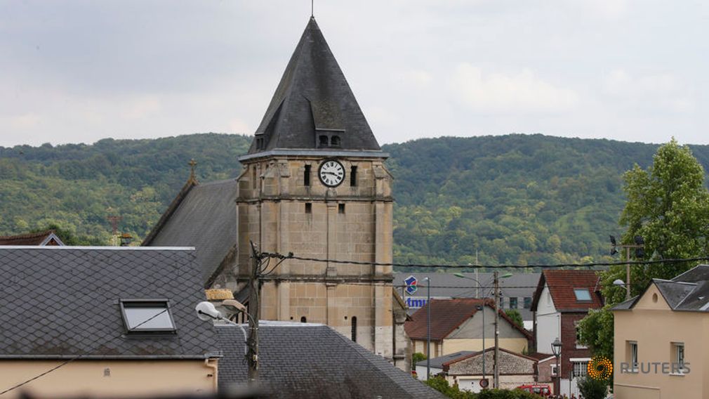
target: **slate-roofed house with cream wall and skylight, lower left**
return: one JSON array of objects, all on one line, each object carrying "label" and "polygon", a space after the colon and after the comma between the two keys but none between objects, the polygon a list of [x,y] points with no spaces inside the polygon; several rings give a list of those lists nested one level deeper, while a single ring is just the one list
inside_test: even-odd
[{"label": "slate-roofed house with cream wall and skylight, lower left", "polygon": [[0,393],[214,393],[218,341],[191,248],[0,246]]}]

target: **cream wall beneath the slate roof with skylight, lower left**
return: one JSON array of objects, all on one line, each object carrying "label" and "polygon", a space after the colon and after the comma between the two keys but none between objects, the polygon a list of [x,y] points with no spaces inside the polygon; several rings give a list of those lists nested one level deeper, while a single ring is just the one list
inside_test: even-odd
[{"label": "cream wall beneath the slate roof with skylight, lower left", "polygon": [[[0,390],[27,381],[62,361],[0,360]],[[217,365],[217,361],[210,362]],[[191,361],[73,361],[3,398],[149,397],[169,393],[216,392],[217,376],[203,360]]]}]

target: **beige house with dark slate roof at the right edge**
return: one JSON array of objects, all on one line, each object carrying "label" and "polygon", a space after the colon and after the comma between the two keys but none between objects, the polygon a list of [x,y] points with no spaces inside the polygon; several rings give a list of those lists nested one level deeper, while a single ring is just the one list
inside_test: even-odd
[{"label": "beige house with dark slate roof at the right edge", "polygon": [[616,398],[709,398],[709,266],[653,279],[613,315]]}]

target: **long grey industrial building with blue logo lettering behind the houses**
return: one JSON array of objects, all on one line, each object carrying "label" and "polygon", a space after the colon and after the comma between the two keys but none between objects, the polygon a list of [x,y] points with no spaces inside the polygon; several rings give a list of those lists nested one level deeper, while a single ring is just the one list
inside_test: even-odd
[{"label": "long grey industrial building with blue logo lettering behind the houses", "polygon": [[[414,297],[425,297],[426,277],[430,277],[431,297],[438,299],[443,298],[474,298],[479,296],[491,297],[492,295],[492,279],[493,273],[462,273],[467,278],[475,278],[481,282],[482,288],[477,289],[474,281],[467,278],[459,278],[452,273],[394,273],[393,286],[397,288],[403,297],[412,295],[403,294],[403,288],[406,286],[404,280],[408,276],[413,275],[420,284],[418,291],[414,293]],[[524,298],[533,297],[537,283],[539,282],[540,273],[514,273],[508,278],[500,279],[500,290],[502,292],[501,307],[508,309],[510,297],[517,298],[517,310],[520,312],[523,320],[532,320],[532,312],[530,309],[524,308]]]}]

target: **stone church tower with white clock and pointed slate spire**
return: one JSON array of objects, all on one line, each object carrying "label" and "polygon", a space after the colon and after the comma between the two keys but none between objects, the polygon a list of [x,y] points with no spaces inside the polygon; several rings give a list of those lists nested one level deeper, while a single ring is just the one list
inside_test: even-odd
[{"label": "stone church tower with white clock and pointed slate spire", "polygon": [[[391,175],[314,18],[239,158],[238,288],[260,251],[391,263]],[[273,262],[272,262],[273,265]],[[328,324],[396,358],[391,266],[284,261],[262,278],[261,318]]]}]

